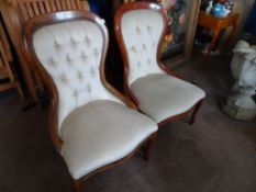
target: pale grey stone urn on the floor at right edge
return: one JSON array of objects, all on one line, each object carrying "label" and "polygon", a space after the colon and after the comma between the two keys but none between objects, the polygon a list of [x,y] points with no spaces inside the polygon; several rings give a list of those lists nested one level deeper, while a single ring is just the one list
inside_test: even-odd
[{"label": "pale grey stone urn on the floor at right edge", "polygon": [[223,111],[236,120],[256,116],[256,46],[245,41],[237,42],[231,64],[236,80]]}]

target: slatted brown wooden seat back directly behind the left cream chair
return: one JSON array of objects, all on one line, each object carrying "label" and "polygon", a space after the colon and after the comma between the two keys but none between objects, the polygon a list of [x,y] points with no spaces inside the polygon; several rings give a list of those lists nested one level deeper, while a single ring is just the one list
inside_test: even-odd
[{"label": "slatted brown wooden seat back directly behind the left cream chair", "polygon": [[42,91],[44,86],[35,72],[34,66],[30,66],[24,60],[21,52],[22,29],[27,20],[41,14],[56,11],[88,10],[88,2],[86,0],[5,0],[0,3],[0,9],[11,43],[18,54],[29,93],[33,101],[40,104],[37,90]]}]

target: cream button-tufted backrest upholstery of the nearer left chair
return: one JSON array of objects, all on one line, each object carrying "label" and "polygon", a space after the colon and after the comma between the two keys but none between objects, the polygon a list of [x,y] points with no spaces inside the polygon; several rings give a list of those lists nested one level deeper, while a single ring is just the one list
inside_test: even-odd
[{"label": "cream button-tufted backrest upholstery of the nearer left chair", "polygon": [[[71,12],[57,13],[68,18]],[[102,20],[43,25],[32,34],[34,53],[58,93],[58,128],[75,109],[96,100],[118,101],[101,82],[108,33]],[[59,131],[59,129],[58,129]]]}]

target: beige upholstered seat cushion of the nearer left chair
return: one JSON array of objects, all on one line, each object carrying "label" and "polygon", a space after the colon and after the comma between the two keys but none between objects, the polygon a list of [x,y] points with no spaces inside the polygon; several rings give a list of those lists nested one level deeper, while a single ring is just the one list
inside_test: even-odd
[{"label": "beige upholstered seat cushion of the nearer left chair", "polygon": [[157,131],[149,117],[113,101],[93,101],[71,112],[62,125],[62,156],[79,179],[132,153]]}]

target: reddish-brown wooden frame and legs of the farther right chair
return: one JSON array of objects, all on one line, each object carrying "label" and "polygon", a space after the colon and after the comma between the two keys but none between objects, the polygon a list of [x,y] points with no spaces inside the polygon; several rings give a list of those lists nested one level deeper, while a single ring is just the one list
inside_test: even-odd
[{"label": "reddish-brown wooden frame and legs of the farther right chair", "polygon": [[[157,11],[159,12],[159,14],[163,16],[164,20],[164,30],[163,33],[160,35],[160,39],[158,42],[157,45],[157,64],[158,66],[169,76],[174,76],[178,79],[182,79],[182,77],[178,74],[176,74],[175,71],[170,70],[167,66],[165,66],[162,60],[160,60],[160,56],[162,56],[162,52],[160,52],[160,47],[162,44],[164,43],[164,37],[167,33],[167,19],[166,19],[166,14],[164,13],[164,9],[162,9],[159,5],[152,3],[152,2],[127,2],[122,4],[118,11],[115,12],[114,15],[114,32],[115,32],[115,37],[122,54],[122,58],[123,58],[123,68],[124,68],[124,89],[125,92],[127,92],[129,97],[134,101],[134,103],[136,104],[136,106],[138,108],[140,102],[137,100],[137,98],[134,95],[134,93],[132,92],[130,86],[129,86],[129,72],[130,72],[130,61],[129,61],[129,57],[127,57],[127,49],[125,47],[125,43],[122,36],[122,30],[121,30],[121,22],[122,22],[122,16],[125,12],[127,11],[132,11],[132,10],[142,10],[142,9],[147,9],[147,10],[153,10],[153,11]],[[190,118],[190,124],[193,124],[196,121],[196,115],[197,112],[199,111],[200,106],[202,105],[203,99],[199,100],[191,109],[189,109],[188,111],[177,114],[175,116],[170,116],[162,122],[158,123],[158,126],[163,126],[165,123],[171,122],[171,121],[176,121],[176,120],[180,120],[186,116],[189,116],[191,114],[191,118]],[[143,113],[143,112],[142,112]]]}]

